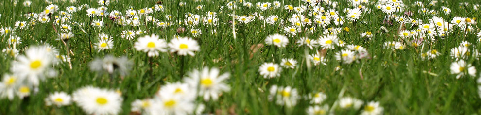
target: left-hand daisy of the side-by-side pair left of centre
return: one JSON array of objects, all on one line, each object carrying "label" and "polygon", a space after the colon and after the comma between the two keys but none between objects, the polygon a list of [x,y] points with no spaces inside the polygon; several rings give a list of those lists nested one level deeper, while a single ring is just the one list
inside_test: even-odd
[{"label": "left-hand daisy of the side-by-side pair left of centre", "polygon": [[159,55],[159,51],[167,52],[167,42],[164,39],[159,39],[158,35],[146,35],[137,39],[134,48],[137,51],[146,52],[149,57],[154,57]]}]

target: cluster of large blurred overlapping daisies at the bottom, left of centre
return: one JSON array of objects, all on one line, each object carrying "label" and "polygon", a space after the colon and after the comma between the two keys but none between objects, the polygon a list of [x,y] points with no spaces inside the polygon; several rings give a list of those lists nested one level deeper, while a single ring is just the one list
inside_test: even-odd
[{"label": "cluster of large blurred overlapping daisies at the bottom, left of centre", "polygon": [[147,115],[201,114],[205,106],[196,102],[197,97],[216,101],[223,92],[230,90],[225,83],[229,76],[229,73],[221,74],[215,67],[195,69],[183,82],[161,86],[153,98],[135,100],[132,111]]}]

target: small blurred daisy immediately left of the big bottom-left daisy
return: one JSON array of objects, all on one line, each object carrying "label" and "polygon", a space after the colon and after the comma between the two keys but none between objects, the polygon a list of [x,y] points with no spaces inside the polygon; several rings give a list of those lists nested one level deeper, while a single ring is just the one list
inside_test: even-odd
[{"label": "small blurred daisy immediately left of the big bottom-left daisy", "polygon": [[60,107],[60,106],[70,105],[71,103],[72,103],[72,98],[70,97],[70,95],[68,95],[65,92],[55,92],[53,94],[50,94],[47,98],[45,98],[45,104],[47,106],[50,106],[53,104]]}]

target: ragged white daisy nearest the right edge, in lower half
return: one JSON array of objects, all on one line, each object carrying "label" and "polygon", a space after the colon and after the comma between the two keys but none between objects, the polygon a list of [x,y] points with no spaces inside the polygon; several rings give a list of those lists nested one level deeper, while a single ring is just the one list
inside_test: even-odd
[{"label": "ragged white daisy nearest the right edge, in lower half", "polygon": [[467,64],[464,60],[459,60],[458,62],[451,63],[451,74],[458,74],[456,79],[461,78],[467,73],[470,76],[476,76],[476,68],[471,66],[471,64]]}]

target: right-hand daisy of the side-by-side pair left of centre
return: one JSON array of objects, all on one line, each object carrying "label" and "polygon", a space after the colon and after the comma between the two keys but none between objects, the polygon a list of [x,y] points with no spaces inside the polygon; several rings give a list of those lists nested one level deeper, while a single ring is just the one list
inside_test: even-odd
[{"label": "right-hand daisy of the side-by-side pair left of centre", "polygon": [[190,37],[173,38],[169,44],[170,52],[177,52],[177,55],[194,56],[194,51],[199,51],[200,46],[197,41]]}]

